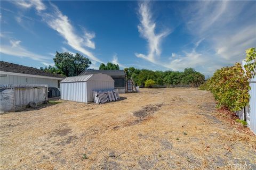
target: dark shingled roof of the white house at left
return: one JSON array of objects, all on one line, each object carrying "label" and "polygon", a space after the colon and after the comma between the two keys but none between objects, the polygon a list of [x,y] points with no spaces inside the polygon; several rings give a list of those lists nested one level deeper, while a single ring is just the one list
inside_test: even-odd
[{"label": "dark shingled roof of the white house at left", "polygon": [[33,67],[8,63],[4,61],[0,61],[0,71],[19,73],[19,74],[41,75],[41,76],[53,77],[53,78],[65,78],[65,77],[62,77],[61,75],[45,72],[39,69],[35,69]]}]

